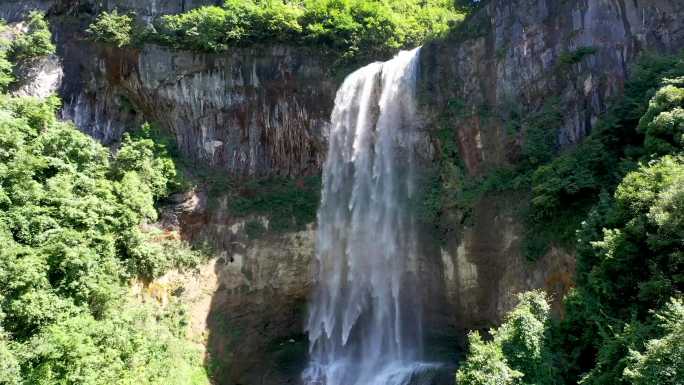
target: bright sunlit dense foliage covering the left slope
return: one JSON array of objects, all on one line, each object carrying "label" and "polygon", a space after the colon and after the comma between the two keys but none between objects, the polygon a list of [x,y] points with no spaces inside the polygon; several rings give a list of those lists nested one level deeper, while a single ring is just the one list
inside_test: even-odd
[{"label": "bright sunlit dense foliage covering the left slope", "polygon": [[0,384],[207,383],[182,317],[127,294],[199,260],[141,227],[173,163],[149,139],[112,157],[58,106],[0,96]]}]

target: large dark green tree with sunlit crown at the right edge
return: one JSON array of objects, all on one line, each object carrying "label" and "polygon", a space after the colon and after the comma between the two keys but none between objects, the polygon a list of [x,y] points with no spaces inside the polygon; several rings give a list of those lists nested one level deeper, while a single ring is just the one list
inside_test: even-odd
[{"label": "large dark green tree with sunlit crown at the right edge", "polygon": [[627,384],[629,351],[658,337],[650,310],[684,286],[684,212],[673,204],[684,195],[683,161],[666,156],[629,173],[578,233],[577,292],[558,342],[568,381]]}]

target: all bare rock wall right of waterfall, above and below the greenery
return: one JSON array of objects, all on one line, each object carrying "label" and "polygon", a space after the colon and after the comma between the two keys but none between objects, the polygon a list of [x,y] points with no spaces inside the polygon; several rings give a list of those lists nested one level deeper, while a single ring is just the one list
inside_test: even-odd
[{"label": "all bare rock wall right of waterfall, above and below the greenery", "polygon": [[[571,147],[621,94],[641,53],[684,48],[683,20],[680,0],[492,0],[454,36],[423,47],[423,111],[433,129],[453,133],[471,175],[515,163],[525,137],[509,123],[549,102],[562,113],[549,128],[560,148]],[[458,113],[443,119],[453,108]],[[574,258],[560,249],[536,263],[521,256],[524,228],[515,210],[526,199],[484,197],[472,223],[435,252],[456,327],[498,322],[515,294],[531,288],[545,288],[562,311]]]}]

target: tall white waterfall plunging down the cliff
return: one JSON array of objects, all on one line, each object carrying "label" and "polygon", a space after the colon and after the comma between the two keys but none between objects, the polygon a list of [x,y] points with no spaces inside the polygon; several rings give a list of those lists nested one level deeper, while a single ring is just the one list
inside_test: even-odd
[{"label": "tall white waterfall plunging down the cliff", "polygon": [[318,211],[307,385],[406,385],[422,358],[415,150],[420,49],[349,75],[337,92]]}]

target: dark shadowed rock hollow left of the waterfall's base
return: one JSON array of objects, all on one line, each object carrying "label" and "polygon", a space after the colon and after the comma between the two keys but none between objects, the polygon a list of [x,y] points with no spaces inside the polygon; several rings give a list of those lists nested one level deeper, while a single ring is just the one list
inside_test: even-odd
[{"label": "dark shadowed rock hollow left of the waterfall's base", "polygon": [[207,316],[205,364],[214,384],[298,384],[308,342],[302,334],[306,299],[276,289],[231,287],[231,264],[215,266],[219,285]]}]

